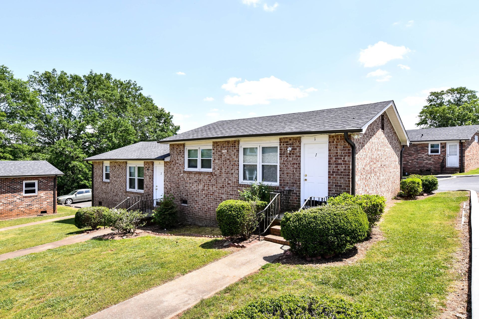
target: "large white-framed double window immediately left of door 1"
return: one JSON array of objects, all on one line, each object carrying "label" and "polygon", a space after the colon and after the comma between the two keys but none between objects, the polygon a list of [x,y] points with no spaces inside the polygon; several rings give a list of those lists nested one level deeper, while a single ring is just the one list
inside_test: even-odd
[{"label": "large white-framed double window immediately left of door 1", "polygon": [[279,184],[279,145],[245,145],[240,152],[240,182]]}]

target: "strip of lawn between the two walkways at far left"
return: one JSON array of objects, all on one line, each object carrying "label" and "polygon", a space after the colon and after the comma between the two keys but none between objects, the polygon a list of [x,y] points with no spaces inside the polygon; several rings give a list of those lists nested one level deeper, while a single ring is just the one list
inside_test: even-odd
[{"label": "strip of lawn between the two walkways at far left", "polygon": [[75,226],[74,218],[0,231],[0,253],[55,242],[80,232],[82,230]]}]

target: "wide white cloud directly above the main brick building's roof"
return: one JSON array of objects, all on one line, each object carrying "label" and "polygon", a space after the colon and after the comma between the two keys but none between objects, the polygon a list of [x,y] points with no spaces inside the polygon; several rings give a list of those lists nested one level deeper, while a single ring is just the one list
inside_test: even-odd
[{"label": "wide white cloud directly above the main brick building's roof", "polygon": [[245,79],[244,82],[239,77],[230,77],[221,88],[235,94],[225,96],[225,103],[237,105],[269,104],[271,99],[294,101],[308,96],[306,90],[293,88],[291,84],[274,76],[263,77],[258,81]]}]

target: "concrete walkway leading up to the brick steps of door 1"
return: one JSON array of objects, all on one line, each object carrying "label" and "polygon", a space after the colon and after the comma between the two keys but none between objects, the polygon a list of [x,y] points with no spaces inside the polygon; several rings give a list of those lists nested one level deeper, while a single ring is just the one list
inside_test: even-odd
[{"label": "concrete walkway leading up to the brick steps of door 1", "polygon": [[167,319],[274,261],[288,246],[262,241],[87,319]]}]

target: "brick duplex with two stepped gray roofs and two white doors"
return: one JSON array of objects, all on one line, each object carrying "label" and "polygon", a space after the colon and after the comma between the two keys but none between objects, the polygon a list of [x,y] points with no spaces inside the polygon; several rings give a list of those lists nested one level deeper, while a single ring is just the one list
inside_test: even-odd
[{"label": "brick duplex with two stepped gray roofs and two white doors", "polygon": [[93,205],[172,194],[183,222],[215,225],[218,204],[255,181],[287,193],[293,208],[342,192],[390,199],[399,192],[408,143],[394,102],[385,101],[218,121],[86,160]]}]

